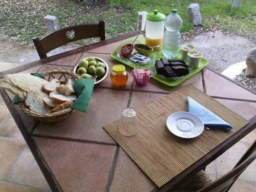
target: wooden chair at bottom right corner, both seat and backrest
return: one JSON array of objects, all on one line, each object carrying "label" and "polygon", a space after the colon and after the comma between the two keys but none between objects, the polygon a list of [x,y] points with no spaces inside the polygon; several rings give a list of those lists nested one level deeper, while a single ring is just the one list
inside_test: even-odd
[{"label": "wooden chair at bottom right corner, both seat and backrest", "polygon": [[[232,187],[244,170],[256,159],[256,141],[250,146],[249,150],[243,155],[234,168],[226,175],[210,182],[206,174],[201,171],[189,181],[185,181],[175,192],[227,192]],[[202,188],[201,188],[202,187]]]}]

